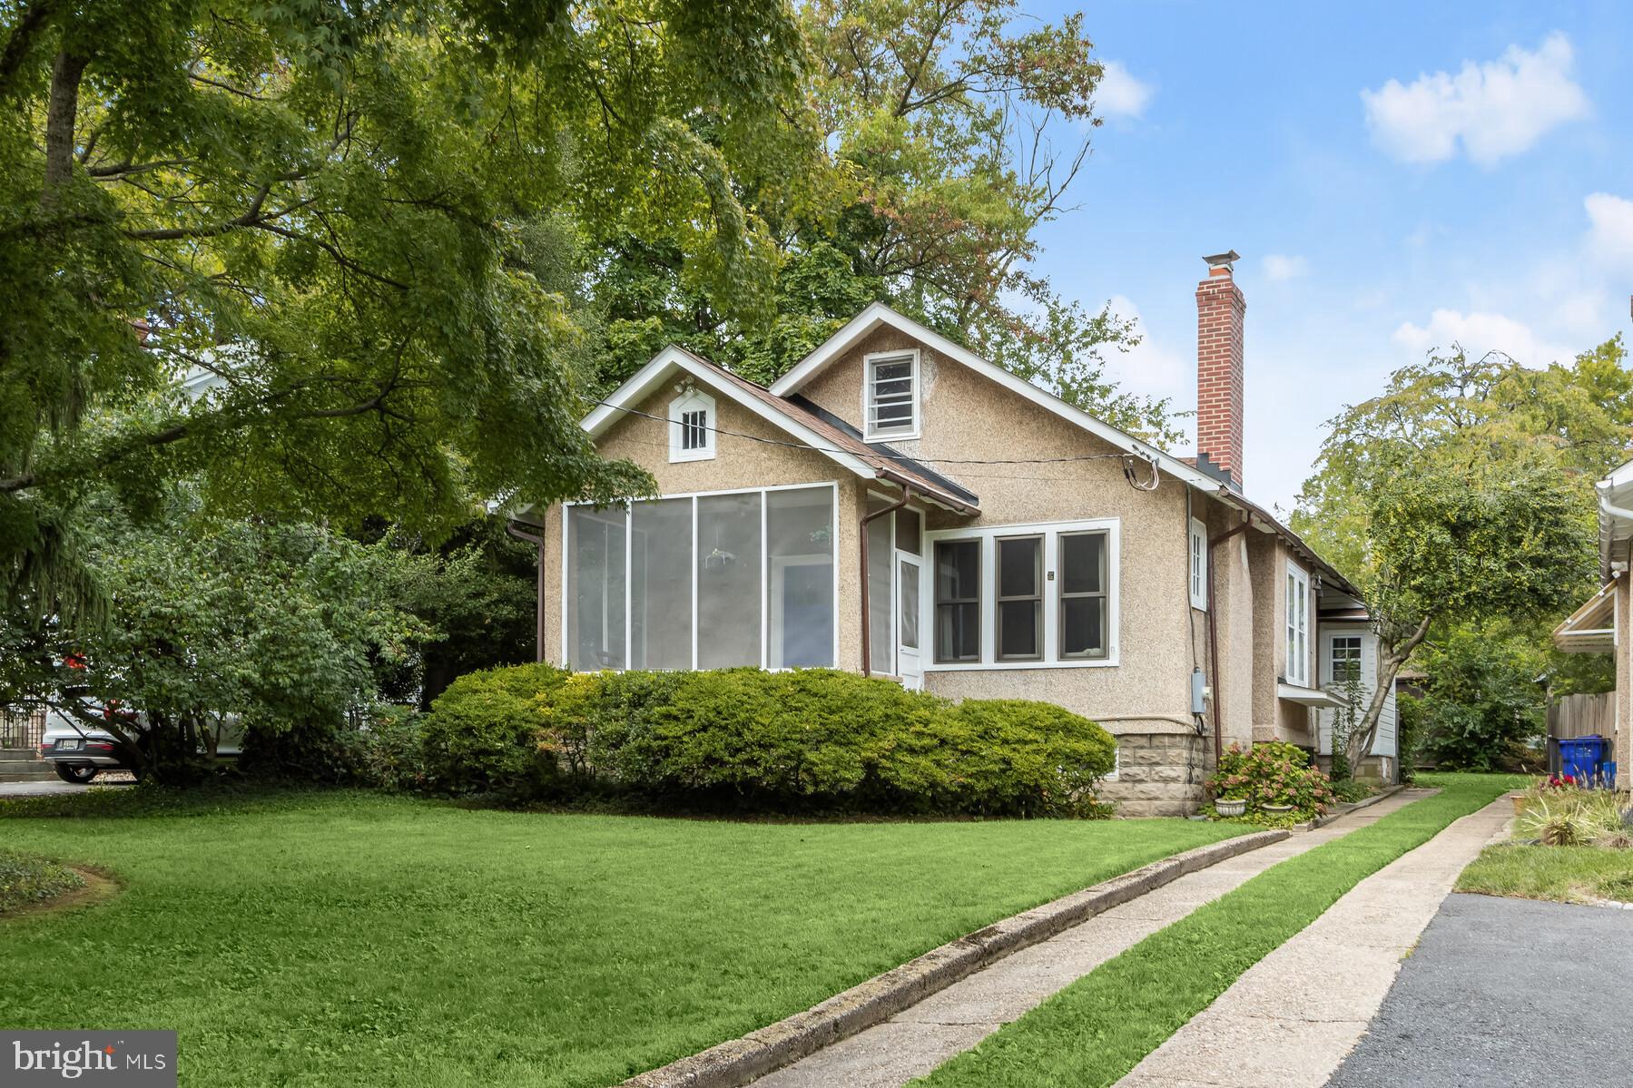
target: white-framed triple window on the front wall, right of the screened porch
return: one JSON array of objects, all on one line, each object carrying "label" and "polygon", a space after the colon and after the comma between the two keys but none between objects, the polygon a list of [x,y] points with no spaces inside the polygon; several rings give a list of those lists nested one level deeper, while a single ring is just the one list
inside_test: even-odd
[{"label": "white-framed triple window on the front wall, right of the screened porch", "polygon": [[1117,663],[1115,519],[928,533],[934,663]]}]

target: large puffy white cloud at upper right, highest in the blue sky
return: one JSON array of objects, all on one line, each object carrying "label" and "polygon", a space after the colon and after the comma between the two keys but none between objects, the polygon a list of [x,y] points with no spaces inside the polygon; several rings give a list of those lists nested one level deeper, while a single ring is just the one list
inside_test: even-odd
[{"label": "large puffy white cloud at upper right, highest in the blue sky", "polygon": [[1390,155],[1444,162],[1462,140],[1471,160],[1489,167],[1587,114],[1571,65],[1571,39],[1553,33],[1535,52],[1509,46],[1497,60],[1465,60],[1457,75],[1419,75],[1409,85],[1390,80],[1360,100],[1373,142]]}]

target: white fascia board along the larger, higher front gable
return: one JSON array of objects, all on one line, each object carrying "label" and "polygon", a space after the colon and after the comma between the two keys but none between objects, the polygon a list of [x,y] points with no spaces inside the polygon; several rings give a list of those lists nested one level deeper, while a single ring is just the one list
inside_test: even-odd
[{"label": "white fascia board along the larger, higher front gable", "polygon": [[897,314],[883,302],[874,302],[865,310],[852,317],[844,325],[844,328],[828,337],[828,340],[825,340],[820,348],[805,356],[805,359],[799,366],[795,366],[792,371],[779,377],[777,382],[771,387],[771,392],[774,392],[779,397],[787,397],[789,394],[797,392],[807,381],[821,372],[823,368],[826,368],[836,358],[849,351],[852,346],[856,346],[856,343],[862,337],[869,335],[880,325],[890,325],[892,328],[897,328],[906,333],[908,337],[913,337],[914,340],[924,343],[929,348],[934,348],[937,353],[947,356],[949,359],[962,363],[977,374],[981,374],[983,377],[998,382],[1004,389],[1009,389],[1011,392],[1026,397],[1027,400],[1030,400],[1032,404],[1047,412],[1053,412],[1068,423],[1073,423],[1081,430],[1089,431],[1096,438],[1110,443],[1112,446],[1122,449],[1124,453],[1130,453],[1137,457],[1141,457],[1143,461],[1155,464],[1158,469],[1168,472],[1176,480],[1181,480],[1184,484],[1189,484],[1190,487],[1195,487],[1208,493],[1221,493],[1226,490],[1225,485],[1215,480],[1212,475],[1192,469],[1184,461],[1179,461],[1177,457],[1163,453],[1161,449],[1158,449],[1150,443],[1140,441],[1133,435],[1128,435],[1127,431],[1119,430],[1110,423],[1089,415],[1088,412],[1083,412],[1081,408],[1071,407],[1055,394],[1045,389],[1039,389],[1037,386],[1022,377],[1016,377],[1001,366],[988,363],[986,359],[975,354],[968,348],[957,345],[952,340],[947,340],[936,330],[919,325],[911,317]]}]

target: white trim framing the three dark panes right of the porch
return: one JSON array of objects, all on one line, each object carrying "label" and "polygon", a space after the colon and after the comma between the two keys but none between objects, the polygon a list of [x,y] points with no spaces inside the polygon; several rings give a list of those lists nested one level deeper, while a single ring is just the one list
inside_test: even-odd
[{"label": "white trim framing the three dark panes right of the porch", "polygon": [[[1060,658],[1060,534],[1106,533],[1106,657]],[[1043,660],[999,662],[998,632],[993,622],[998,601],[998,544],[999,536],[1043,536]],[[936,595],[934,595],[934,546],[936,541],[981,542],[981,660],[936,662]],[[924,564],[919,577],[929,578],[931,591],[919,586],[919,631],[931,632],[931,647],[923,650],[926,673],[968,673],[980,670],[1027,668],[1115,668],[1122,658],[1119,639],[1122,614],[1122,519],[1089,518],[1083,521],[1039,521],[1030,524],[993,524],[960,529],[932,529],[924,533]],[[919,635],[923,642],[923,634]]]}]

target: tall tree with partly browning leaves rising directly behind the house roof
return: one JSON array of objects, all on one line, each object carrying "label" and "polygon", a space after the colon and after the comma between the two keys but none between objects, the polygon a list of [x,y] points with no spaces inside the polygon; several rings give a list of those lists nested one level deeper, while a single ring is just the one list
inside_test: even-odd
[{"label": "tall tree with partly browning leaves rising directly behind the house roof", "polygon": [[1166,400],[1104,374],[1107,353],[1138,343],[1132,322],[1063,301],[1029,270],[1099,123],[1081,13],[1045,25],[1014,0],[808,0],[799,18],[826,155],[799,183],[743,193],[779,245],[769,315],[712,305],[673,247],[603,237],[603,386],[668,341],[769,382],[885,299],[1078,407],[1177,439]]}]

